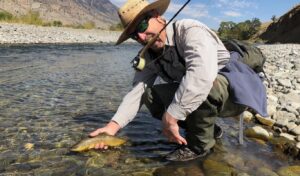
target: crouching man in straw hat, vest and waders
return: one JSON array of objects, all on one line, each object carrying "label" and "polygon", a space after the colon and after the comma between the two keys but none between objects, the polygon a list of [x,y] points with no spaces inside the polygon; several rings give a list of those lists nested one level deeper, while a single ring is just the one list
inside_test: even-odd
[{"label": "crouching man in straw hat, vest and waders", "polygon": [[[119,9],[125,29],[117,44],[132,38],[146,45],[166,25],[161,15],[169,3],[169,0],[151,4],[145,0],[128,0]],[[220,136],[214,130],[217,116],[236,116],[249,107],[247,102],[236,104],[232,101],[231,97],[236,94],[231,95],[229,91],[231,79],[227,73],[230,73],[230,68],[235,70],[234,76],[236,70],[242,70],[243,73],[238,74],[238,77],[243,75],[242,83],[249,77],[250,84],[256,85],[258,93],[264,92],[257,75],[245,64],[240,65],[241,62],[229,64],[232,60],[230,53],[218,36],[195,20],[179,20],[168,25],[150,46],[145,59],[145,68],[137,70],[133,89],[124,97],[112,120],[90,136],[104,132],[115,135],[134,118],[140,105],[145,104],[152,116],[162,119],[163,134],[169,141],[180,144],[166,159],[192,160],[207,155],[215,145],[214,136]],[[220,74],[222,70],[226,77]],[[157,84],[158,78],[164,84]],[[235,84],[234,81],[232,83]],[[250,94],[250,99],[261,98],[251,91],[254,90],[245,92]],[[247,96],[243,98],[248,99]],[[254,108],[264,105],[260,100],[254,105],[251,103],[250,107]],[[254,110],[266,114],[265,107]],[[179,134],[179,125],[186,130],[185,138]],[[106,149],[107,146],[98,144],[95,148]]]}]

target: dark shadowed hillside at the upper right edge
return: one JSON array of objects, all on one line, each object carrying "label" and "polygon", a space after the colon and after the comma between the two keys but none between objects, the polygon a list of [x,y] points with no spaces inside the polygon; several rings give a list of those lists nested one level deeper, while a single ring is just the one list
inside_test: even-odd
[{"label": "dark shadowed hillside at the upper right edge", "polygon": [[259,36],[267,43],[300,43],[300,4],[271,23]]}]

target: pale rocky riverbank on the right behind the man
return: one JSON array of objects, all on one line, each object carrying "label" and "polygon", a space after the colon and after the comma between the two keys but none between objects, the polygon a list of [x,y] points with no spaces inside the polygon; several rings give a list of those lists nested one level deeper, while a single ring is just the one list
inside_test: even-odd
[{"label": "pale rocky riverbank on the right behind the man", "polygon": [[[265,85],[270,117],[261,118],[246,112],[244,117],[247,120],[255,117],[257,122],[263,124],[247,129],[246,135],[275,144],[278,144],[278,140],[274,138],[284,139],[282,149],[300,159],[300,45],[258,47],[267,58],[265,72],[269,81],[265,81]],[[268,130],[270,127],[273,130]],[[286,145],[286,141],[292,142]]]}]

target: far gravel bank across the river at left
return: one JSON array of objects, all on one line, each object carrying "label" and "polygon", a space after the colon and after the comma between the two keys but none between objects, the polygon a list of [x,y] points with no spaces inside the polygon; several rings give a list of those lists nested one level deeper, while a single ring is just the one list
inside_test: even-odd
[{"label": "far gravel bank across the river at left", "polygon": [[0,23],[0,44],[114,43],[119,31]]}]

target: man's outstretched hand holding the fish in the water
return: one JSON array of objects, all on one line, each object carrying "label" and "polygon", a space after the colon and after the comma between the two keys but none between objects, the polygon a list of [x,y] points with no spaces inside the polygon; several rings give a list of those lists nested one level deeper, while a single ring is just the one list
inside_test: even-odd
[{"label": "man's outstretched hand holding the fish in the water", "polygon": [[[110,121],[105,127],[98,128],[97,130],[91,132],[89,134],[90,137],[95,137],[100,133],[106,133],[109,135],[115,135],[120,129],[119,124],[114,121]],[[104,143],[96,144],[95,149],[107,149],[108,147],[104,145]]]}]

